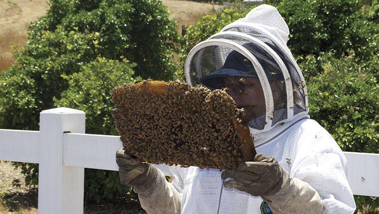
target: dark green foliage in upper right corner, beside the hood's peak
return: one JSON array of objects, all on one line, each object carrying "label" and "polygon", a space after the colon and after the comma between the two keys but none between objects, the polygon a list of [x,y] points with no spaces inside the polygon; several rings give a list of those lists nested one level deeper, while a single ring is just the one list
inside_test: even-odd
[{"label": "dark green foliage in upper right corner, beside the hood's peak", "polygon": [[352,49],[359,58],[379,54],[379,5],[356,0],[269,1],[290,29],[288,46],[295,55],[333,52],[337,58]]}]

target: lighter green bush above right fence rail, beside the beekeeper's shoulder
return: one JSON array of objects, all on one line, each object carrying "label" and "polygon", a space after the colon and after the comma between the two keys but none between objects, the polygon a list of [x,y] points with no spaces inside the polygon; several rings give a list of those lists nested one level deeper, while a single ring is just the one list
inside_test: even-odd
[{"label": "lighter green bush above right fence rail, beside the beekeeper's shoulder", "polygon": [[378,72],[378,58],[363,65],[354,56],[323,58],[322,74],[307,83],[311,117],[344,151],[379,153],[378,73],[370,72]]}]

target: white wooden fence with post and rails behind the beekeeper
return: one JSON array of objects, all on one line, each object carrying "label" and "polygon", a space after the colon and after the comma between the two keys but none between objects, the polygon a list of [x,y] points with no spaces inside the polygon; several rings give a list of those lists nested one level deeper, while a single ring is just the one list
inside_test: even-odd
[{"label": "white wooden fence with post and rails behind the beekeeper", "polygon": [[[84,134],[85,113],[40,113],[39,131],[0,129],[0,160],[39,163],[38,213],[83,213],[84,168],[118,170],[119,136]],[[355,195],[379,197],[379,154],[345,152]]]}]

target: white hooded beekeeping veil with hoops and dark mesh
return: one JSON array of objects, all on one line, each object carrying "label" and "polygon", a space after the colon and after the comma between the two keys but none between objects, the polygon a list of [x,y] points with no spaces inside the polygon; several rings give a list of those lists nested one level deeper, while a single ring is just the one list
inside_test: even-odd
[{"label": "white hooded beekeeping veil with hoops and dark mesh", "polygon": [[288,34],[275,7],[257,6],[192,48],[185,65],[187,82],[217,89],[225,86],[225,77],[259,80],[266,110],[248,121],[253,134],[307,114],[307,89],[286,45]]}]

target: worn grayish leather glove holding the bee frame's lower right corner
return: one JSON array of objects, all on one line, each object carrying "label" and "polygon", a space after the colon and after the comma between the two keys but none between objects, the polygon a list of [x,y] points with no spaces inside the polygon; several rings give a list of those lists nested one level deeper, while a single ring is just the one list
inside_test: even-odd
[{"label": "worn grayish leather glove holding the bee frame's lower right corner", "polygon": [[254,161],[241,163],[235,170],[222,172],[221,178],[231,178],[224,187],[235,188],[252,196],[270,196],[283,183],[283,168],[273,157],[257,154]]}]

